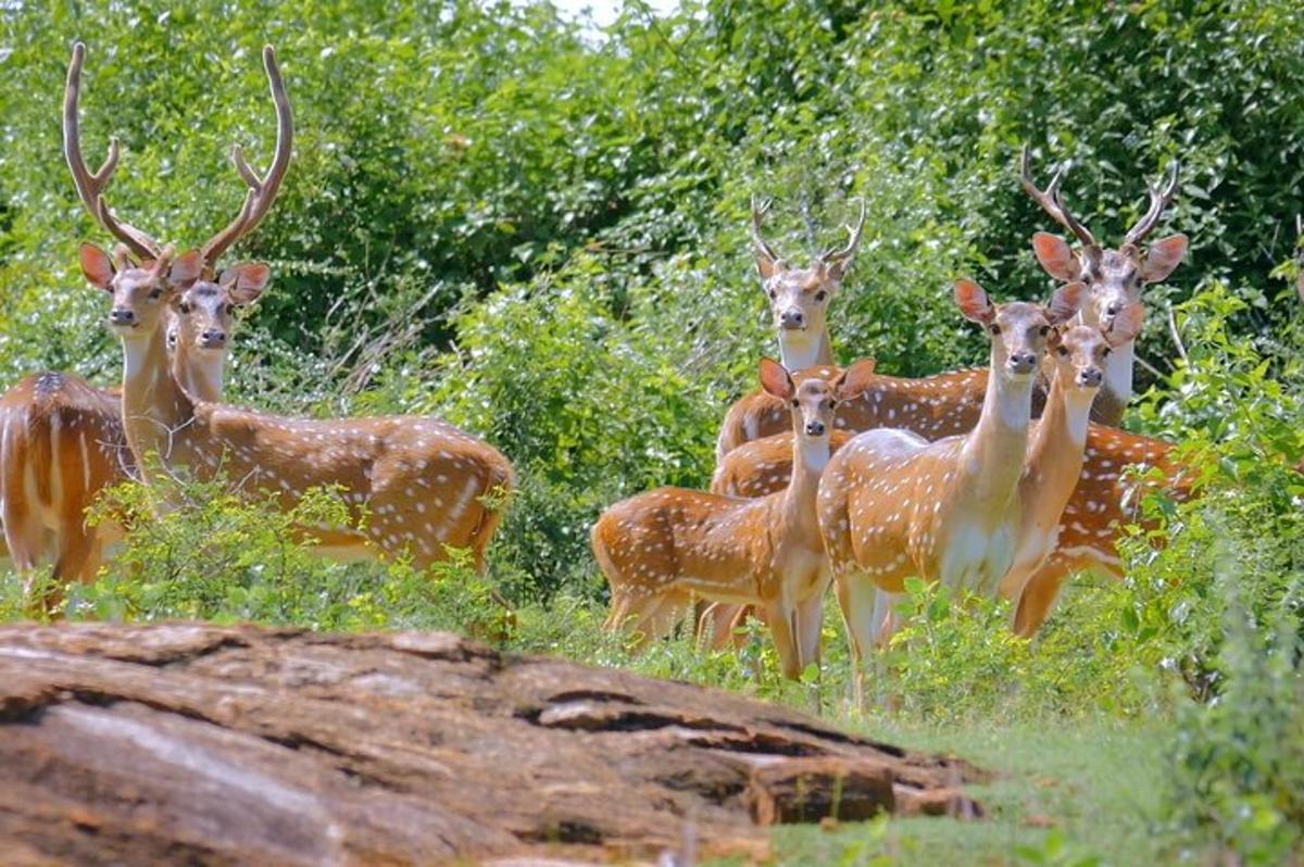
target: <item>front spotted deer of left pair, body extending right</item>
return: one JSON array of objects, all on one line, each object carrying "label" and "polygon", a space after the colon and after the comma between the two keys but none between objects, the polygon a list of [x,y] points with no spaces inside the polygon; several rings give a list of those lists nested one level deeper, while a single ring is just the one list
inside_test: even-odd
[{"label": "front spotted deer of left pair, body extending right", "polygon": [[[271,167],[259,176],[236,150],[249,186],[240,214],[201,249],[153,259],[124,240],[113,256],[93,244],[80,252],[91,286],[111,293],[108,325],[123,344],[121,415],[141,477],[201,480],[219,475],[250,495],[271,494],[293,507],[309,489],[334,488],[352,510],[348,527],[301,528],[323,554],[342,559],[408,557],[417,568],[468,549],[482,570],[485,550],[512,485],[511,464],[496,448],[434,419],[309,420],[270,416],[188,394],[167,359],[166,312],[190,326],[196,304],[215,293],[257,299],[271,278],[261,262],[218,269],[219,257],[266,216],[289,162],[288,102],[263,52],[278,106]],[[103,199],[98,211],[108,214]]]}]

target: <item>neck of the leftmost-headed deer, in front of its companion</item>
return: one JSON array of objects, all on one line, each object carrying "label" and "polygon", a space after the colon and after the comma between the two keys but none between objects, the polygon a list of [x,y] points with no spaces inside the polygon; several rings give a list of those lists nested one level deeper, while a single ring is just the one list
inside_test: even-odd
[{"label": "neck of the leftmost-headed deer, in front of its companion", "polygon": [[123,426],[137,465],[150,452],[167,460],[194,417],[194,402],[172,375],[163,329],[146,339],[123,340]]}]

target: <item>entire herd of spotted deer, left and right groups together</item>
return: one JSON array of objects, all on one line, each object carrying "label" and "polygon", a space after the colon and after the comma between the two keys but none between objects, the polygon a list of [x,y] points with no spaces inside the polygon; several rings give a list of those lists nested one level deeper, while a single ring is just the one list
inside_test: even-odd
[{"label": "entire herd of spotted deer, left and right groups together", "polygon": [[[293,117],[273,50],[263,51],[278,124],[271,166],[259,175],[236,146],[244,205],[184,252],[108,206],[116,140],[98,171],[85,163],[83,59],[78,43],[64,154],[82,205],[117,241],[111,252],[83,244],[80,263],[108,301],[124,368],[120,391],[43,373],[0,399],[4,537],[21,572],[53,570],[53,591],[29,591],[34,605],[50,610],[59,588],[98,574],[125,528],[93,527],[86,511],[126,478],[220,477],[284,510],[331,486],[355,520],[303,527],[321,553],[407,557],[424,567],[467,549],[482,570],[514,485],[511,464],[488,443],[428,417],[284,419],[222,403],[233,313],[271,278],[265,263],[222,258],[267,215],[291,162]],[[1189,495],[1168,443],[1119,426],[1132,396],[1142,288],[1164,280],[1187,253],[1183,235],[1145,245],[1176,194],[1178,168],[1150,186],[1149,209],[1118,248],[1069,213],[1064,173],[1039,189],[1025,149],[1022,188],[1077,242],[1033,236],[1058,289],[1045,304],[998,302],[958,280],[956,306],[987,336],[988,364],[925,378],[833,359],[829,306],[861,244],[863,205],[845,246],[799,267],[765,240],[769,203],[754,199],[751,242],[780,360],[762,360],[762,387],[725,413],[709,492],[643,493],[593,525],[612,595],[608,628],[647,643],[696,610],[700,640],[724,644],[750,611],[768,627],[784,674],[799,677],[819,661],[833,585],[859,673],[898,628],[896,596],[908,578],[1008,598],[1012,628],[1031,636],[1069,575],[1120,576],[1116,542],[1136,508],[1124,471],[1151,467],[1155,484]]]}]

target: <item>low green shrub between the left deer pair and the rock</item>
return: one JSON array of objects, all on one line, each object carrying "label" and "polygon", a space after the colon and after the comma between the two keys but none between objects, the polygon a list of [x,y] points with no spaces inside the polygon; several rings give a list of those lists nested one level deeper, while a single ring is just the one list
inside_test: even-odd
[{"label": "low green shrub between the left deer pair and the rock", "polygon": [[[156,514],[160,503],[168,503]],[[329,490],[289,511],[248,501],[222,482],[124,482],[93,522],[130,527],[99,580],[69,589],[69,618],[254,621],[314,630],[447,628],[501,636],[510,613],[469,555],[426,571],[403,562],[342,566],[314,551],[305,527],[351,525]],[[16,595],[5,595],[17,613]]]}]

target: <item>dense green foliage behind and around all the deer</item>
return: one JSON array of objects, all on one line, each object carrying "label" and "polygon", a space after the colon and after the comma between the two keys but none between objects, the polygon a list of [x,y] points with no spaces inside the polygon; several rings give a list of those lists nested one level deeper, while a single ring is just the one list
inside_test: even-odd
[{"label": "dense green foliage behind and around all the deer", "polygon": [[[769,233],[793,258],[840,240],[865,201],[835,342],[842,360],[921,374],[981,359],[955,276],[999,299],[1047,292],[1028,237],[1056,227],[1015,180],[1024,142],[1043,177],[1074,160],[1065,194],[1110,241],[1180,158],[1157,235],[1187,232],[1192,253],[1148,289],[1151,391],[1128,424],[1183,442],[1204,498],[1150,501],[1128,580],[1074,583],[1031,644],[1003,606],[914,588],[876,669],[897,711],[872,722],[1158,722],[1164,807],[1128,833],[1258,863],[1300,853],[1304,486],[1288,463],[1304,452],[1304,317],[1279,279],[1294,278],[1304,183],[1296,3],[707,0],[656,18],[631,0],[597,34],[506,0],[56,1],[9,4],[0,27],[0,382],[117,375],[103,297],[76,269],[77,241],[107,239],[60,156],[70,43],[87,42],[87,159],[110,136],[124,145],[110,201],[189,246],[244,194],[230,145],[270,155],[270,42],[296,155],[236,250],[275,278],[239,336],[232,394],[284,413],[441,415],[520,477],[489,583],[456,563],[325,565],[289,544],[295,516],[197,489],[183,492],[194,508],[137,522],[104,578],[70,593],[70,617],[510,631],[512,647],[833,712],[849,671],[832,614],[823,670],[795,686],[755,627],[741,661],[685,640],[634,660],[597,630],[593,518],[655,485],[704,485],[725,405],[775,352],[751,194],[778,196]],[[128,486],[111,507],[149,502]],[[329,493],[304,508],[330,519]],[[0,617],[22,611],[17,579],[0,578]],[[1067,849],[1042,834],[1009,858],[1078,863],[1097,851],[1086,824]],[[909,860],[898,844],[880,828],[838,857]]]}]

